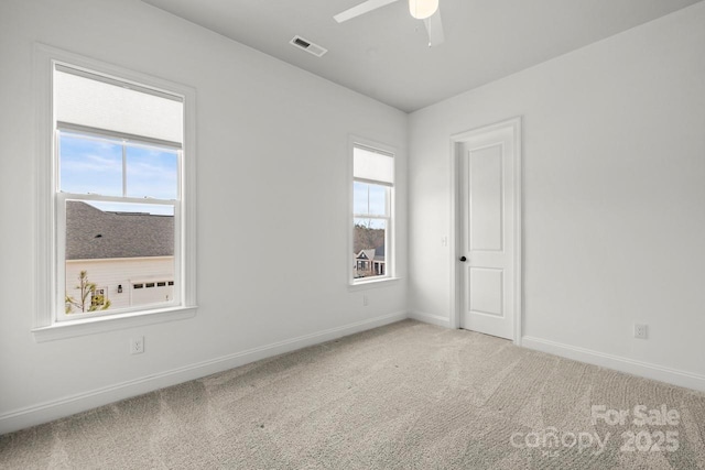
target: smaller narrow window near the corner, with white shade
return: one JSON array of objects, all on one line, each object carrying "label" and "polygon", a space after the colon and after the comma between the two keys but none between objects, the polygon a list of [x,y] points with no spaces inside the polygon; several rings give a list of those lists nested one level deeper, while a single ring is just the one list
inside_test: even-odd
[{"label": "smaller narrow window near the corner, with white shade", "polygon": [[352,282],[390,277],[393,154],[355,143],[352,176]]}]

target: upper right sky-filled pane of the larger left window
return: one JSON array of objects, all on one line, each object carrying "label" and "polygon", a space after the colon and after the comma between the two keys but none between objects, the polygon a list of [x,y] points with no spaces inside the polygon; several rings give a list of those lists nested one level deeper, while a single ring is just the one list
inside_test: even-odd
[{"label": "upper right sky-filled pane of the larger left window", "polygon": [[126,196],[177,199],[177,168],[178,152],[175,150],[128,146]]}]

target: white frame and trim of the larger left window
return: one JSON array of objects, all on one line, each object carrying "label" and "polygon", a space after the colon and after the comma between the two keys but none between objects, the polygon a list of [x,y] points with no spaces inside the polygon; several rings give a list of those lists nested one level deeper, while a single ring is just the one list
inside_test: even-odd
[{"label": "white frame and trim of the larger left window", "polygon": [[[117,77],[121,81],[145,86],[156,91],[176,95],[184,100],[183,159],[178,175],[181,201],[175,214],[175,278],[180,280],[177,300],[173,304],[120,310],[112,315],[78,315],[61,319],[63,302],[64,254],[61,241],[63,218],[59,214],[65,197],[57,193],[58,165],[55,155],[55,119],[53,76],[56,64],[68,64],[88,73]],[[35,296],[32,332],[36,341],[48,341],[121,328],[191,318],[196,315],[196,165],[195,165],[195,90],[161,78],[84,57],[55,47],[36,44],[34,47],[34,87],[36,90],[36,231],[35,231]],[[76,199],[76,195],[70,195]],[[84,199],[91,199],[89,195]],[[106,199],[101,197],[101,199]],[[119,198],[122,201],[131,201]],[[141,200],[144,203],[144,200]]]}]

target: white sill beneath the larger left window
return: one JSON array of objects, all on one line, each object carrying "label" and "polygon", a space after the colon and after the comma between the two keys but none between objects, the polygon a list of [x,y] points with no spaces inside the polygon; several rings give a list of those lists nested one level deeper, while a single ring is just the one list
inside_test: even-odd
[{"label": "white sill beneath the larger left window", "polygon": [[197,307],[162,308],[159,310],[140,311],[113,317],[96,317],[90,319],[61,321],[46,327],[32,329],[36,342],[54,341],[77,336],[94,335],[118,329],[154,325],[166,321],[182,320],[196,316]]}]

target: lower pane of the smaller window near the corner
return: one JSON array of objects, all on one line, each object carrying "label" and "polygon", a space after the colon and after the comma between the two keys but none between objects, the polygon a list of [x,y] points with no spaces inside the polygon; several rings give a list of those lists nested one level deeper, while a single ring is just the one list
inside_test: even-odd
[{"label": "lower pane of the smaller window near the corner", "polygon": [[387,220],[355,219],[352,277],[387,275]]}]

